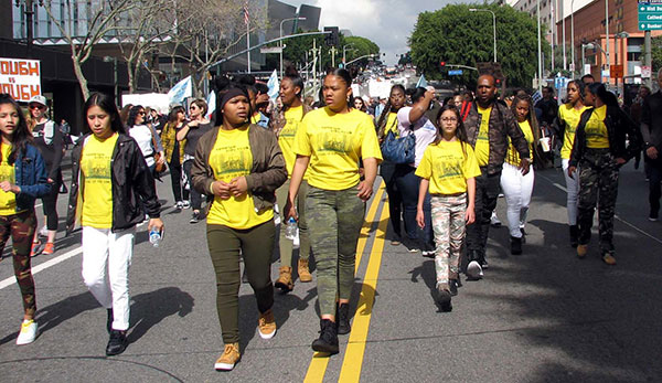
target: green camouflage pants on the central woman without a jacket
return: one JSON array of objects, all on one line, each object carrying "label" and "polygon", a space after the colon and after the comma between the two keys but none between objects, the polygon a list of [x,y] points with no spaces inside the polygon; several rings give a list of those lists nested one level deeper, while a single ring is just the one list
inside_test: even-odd
[{"label": "green camouflage pants on the central woman without a jacket", "polygon": [[356,188],[322,190],[309,187],[306,214],[314,254],[320,315],[335,315],[335,299],[350,299],[354,284],[356,243],[365,203]]}]

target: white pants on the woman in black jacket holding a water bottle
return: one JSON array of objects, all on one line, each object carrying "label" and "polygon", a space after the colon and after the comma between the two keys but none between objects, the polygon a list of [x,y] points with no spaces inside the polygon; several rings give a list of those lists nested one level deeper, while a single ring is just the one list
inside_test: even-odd
[{"label": "white pants on the woman in black jacket holding a water bottle", "polygon": [[113,308],[113,329],[129,328],[129,266],[136,227],[113,233],[110,228],[83,226],[83,280],[99,304]]}]

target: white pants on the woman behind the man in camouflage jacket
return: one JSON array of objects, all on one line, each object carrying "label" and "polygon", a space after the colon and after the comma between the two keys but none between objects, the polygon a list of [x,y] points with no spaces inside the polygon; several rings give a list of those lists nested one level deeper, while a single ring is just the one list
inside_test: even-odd
[{"label": "white pants on the woman behind the man in camouflage jacket", "polygon": [[522,171],[510,163],[503,163],[501,172],[501,189],[508,204],[508,227],[510,235],[515,238],[522,237],[522,228],[526,223],[526,213],[533,193],[533,167],[528,173],[522,175]]}]

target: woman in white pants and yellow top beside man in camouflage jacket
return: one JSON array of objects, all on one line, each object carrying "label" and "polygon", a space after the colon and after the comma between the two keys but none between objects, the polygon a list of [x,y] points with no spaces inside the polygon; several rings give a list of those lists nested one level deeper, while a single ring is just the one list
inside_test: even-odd
[{"label": "woman in white pants and yellow top beside man in camouflage jacket", "polygon": [[[528,152],[533,161],[541,159],[537,155],[537,145],[541,138],[541,128],[538,127],[535,111],[533,110],[533,100],[527,94],[517,94],[513,99],[511,110],[520,129],[524,134],[524,139],[528,143]],[[515,150],[509,138],[508,152],[501,171],[501,190],[505,196],[508,226],[510,230],[511,254],[522,254],[522,244],[525,242],[526,214],[528,204],[533,194],[534,171],[530,168],[527,173],[522,172],[520,153]]]}]

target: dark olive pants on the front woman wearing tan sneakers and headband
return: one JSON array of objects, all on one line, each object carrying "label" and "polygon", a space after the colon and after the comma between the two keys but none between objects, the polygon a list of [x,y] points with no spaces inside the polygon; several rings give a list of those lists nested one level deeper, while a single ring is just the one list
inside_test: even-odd
[{"label": "dark olive pants on the front woman wearing tan sneakers and headband", "polygon": [[271,251],[275,232],[274,221],[246,230],[207,225],[207,246],[216,272],[216,309],[226,344],[239,341],[239,256],[244,257],[246,276],[255,291],[259,312],[274,306]]}]

